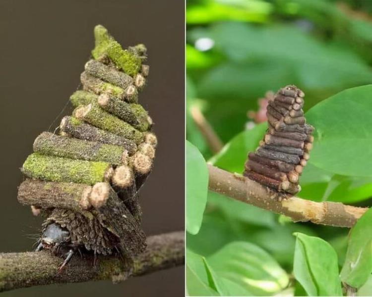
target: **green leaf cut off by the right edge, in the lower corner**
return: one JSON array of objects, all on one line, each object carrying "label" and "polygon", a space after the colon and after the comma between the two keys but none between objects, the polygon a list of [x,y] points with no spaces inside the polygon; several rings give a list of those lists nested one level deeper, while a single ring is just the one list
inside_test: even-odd
[{"label": "green leaf cut off by the right edge, in the lower corner", "polygon": [[372,208],[370,208],[350,231],[341,280],[359,289],[372,273]]}]

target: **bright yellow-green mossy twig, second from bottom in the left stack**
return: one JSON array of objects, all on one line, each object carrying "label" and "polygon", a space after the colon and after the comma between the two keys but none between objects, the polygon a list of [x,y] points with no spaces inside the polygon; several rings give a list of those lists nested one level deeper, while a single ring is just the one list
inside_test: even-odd
[{"label": "bright yellow-green mossy twig, second from bottom in the left stack", "polygon": [[94,185],[109,181],[113,169],[106,162],[72,160],[32,153],[24,162],[22,172],[34,179]]}]

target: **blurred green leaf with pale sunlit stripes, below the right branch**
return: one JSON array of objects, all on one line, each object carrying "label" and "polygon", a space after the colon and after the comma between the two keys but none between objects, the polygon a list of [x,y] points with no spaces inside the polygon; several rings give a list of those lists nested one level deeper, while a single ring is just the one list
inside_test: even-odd
[{"label": "blurred green leaf with pale sunlit stripes, below the right branch", "polygon": [[278,293],[289,282],[286,272],[266,251],[247,242],[230,243],[206,259],[219,277],[253,296]]}]

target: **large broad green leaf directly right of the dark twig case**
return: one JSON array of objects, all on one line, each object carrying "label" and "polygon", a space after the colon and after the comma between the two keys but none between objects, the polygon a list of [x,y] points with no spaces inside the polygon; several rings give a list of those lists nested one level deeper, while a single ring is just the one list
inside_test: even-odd
[{"label": "large broad green leaf directly right of the dark twig case", "polygon": [[338,93],[312,107],[316,127],[310,163],[333,173],[372,176],[372,85]]}]

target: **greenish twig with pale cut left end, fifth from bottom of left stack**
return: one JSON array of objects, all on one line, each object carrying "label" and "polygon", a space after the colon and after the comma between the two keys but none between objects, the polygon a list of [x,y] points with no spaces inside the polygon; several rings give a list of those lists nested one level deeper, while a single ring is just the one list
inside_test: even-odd
[{"label": "greenish twig with pale cut left end, fifth from bottom of left stack", "polygon": [[136,144],[139,144],[143,140],[143,133],[116,116],[106,112],[97,103],[77,107],[73,115],[93,126],[133,140]]}]

